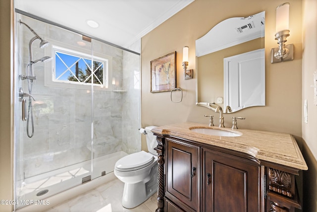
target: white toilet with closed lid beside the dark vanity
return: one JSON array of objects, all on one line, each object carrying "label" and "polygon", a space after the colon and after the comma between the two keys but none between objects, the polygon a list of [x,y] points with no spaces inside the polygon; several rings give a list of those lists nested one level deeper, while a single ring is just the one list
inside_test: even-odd
[{"label": "white toilet with closed lid beside the dark vanity", "polygon": [[158,156],[154,148],[156,137],[151,130],[156,126],[145,128],[148,150],[140,151],[119,159],[114,166],[114,175],[124,182],[122,206],[127,209],[137,207],[157,192]]}]

